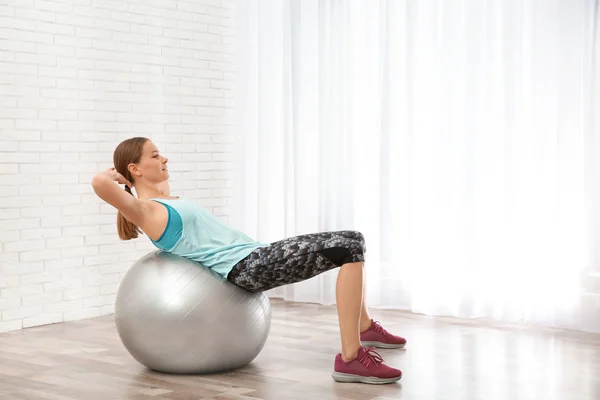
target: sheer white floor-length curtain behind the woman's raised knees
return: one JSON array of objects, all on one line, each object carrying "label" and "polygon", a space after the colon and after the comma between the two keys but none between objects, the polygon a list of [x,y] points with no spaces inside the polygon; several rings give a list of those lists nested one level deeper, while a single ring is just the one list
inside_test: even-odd
[{"label": "sheer white floor-length curtain behind the woman's raised knees", "polygon": [[[581,328],[596,2],[238,4],[241,229],[361,231],[373,307]],[[336,274],[270,294],[332,304]]]}]

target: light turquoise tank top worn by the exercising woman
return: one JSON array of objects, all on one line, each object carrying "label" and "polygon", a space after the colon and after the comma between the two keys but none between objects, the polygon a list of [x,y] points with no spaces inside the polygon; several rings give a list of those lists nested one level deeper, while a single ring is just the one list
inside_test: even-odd
[{"label": "light turquoise tank top worn by the exercising woman", "polygon": [[224,279],[242,259],[259,247],[244,233],[227,226],[192,200],[151,198],[168,210],[167,227],[152,243],[158,249],[194,260]]}]

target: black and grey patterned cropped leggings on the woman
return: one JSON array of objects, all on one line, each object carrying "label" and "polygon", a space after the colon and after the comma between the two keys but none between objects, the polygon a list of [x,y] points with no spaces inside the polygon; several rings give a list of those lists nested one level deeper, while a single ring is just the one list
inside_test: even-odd
[{"label": "black and grey patterned cropped leggings on the woman", "polygon": [[300,282],[346,263],[365,261],[360,232],[311,233],[271,243],[237,263],[227,279],[252,291]]}]

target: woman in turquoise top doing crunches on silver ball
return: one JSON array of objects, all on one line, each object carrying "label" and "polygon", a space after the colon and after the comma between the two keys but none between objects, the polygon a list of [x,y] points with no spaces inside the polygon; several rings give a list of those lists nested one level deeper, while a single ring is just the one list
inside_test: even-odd
[{"label": "woman in turquoise top doing crunches on silver ball", "polygon": [[[401,348],[369,316],[363,296],[365,241],[360,232],[324,232],[259,243],[208,213],[195,201],[171,196],[167,158],[151,140],[135,137],[114,151],[114,168],[92,179],[96,194],[118,210],[119,237],[146,234],[160,250],[192,259],[249,291],[266,291],[340,267],[336,303],[342,351],[334,361],[339,382],[391,383],[402,372],[372,348]],[[118,185],[125,185],[125,191]],[[135,187],[138,197],[131,193]]]}]

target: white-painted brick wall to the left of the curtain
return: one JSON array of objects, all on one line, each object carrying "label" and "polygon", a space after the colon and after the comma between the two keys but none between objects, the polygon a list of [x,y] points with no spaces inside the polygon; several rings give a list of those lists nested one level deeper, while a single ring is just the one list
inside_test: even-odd
[{"label": "white-painted brick wall to the left of the curtain", "polygon": [[131,136],[228,220],[232,0],[0,2],[0,332],[110,314],[146,237],[90,180]]}]

